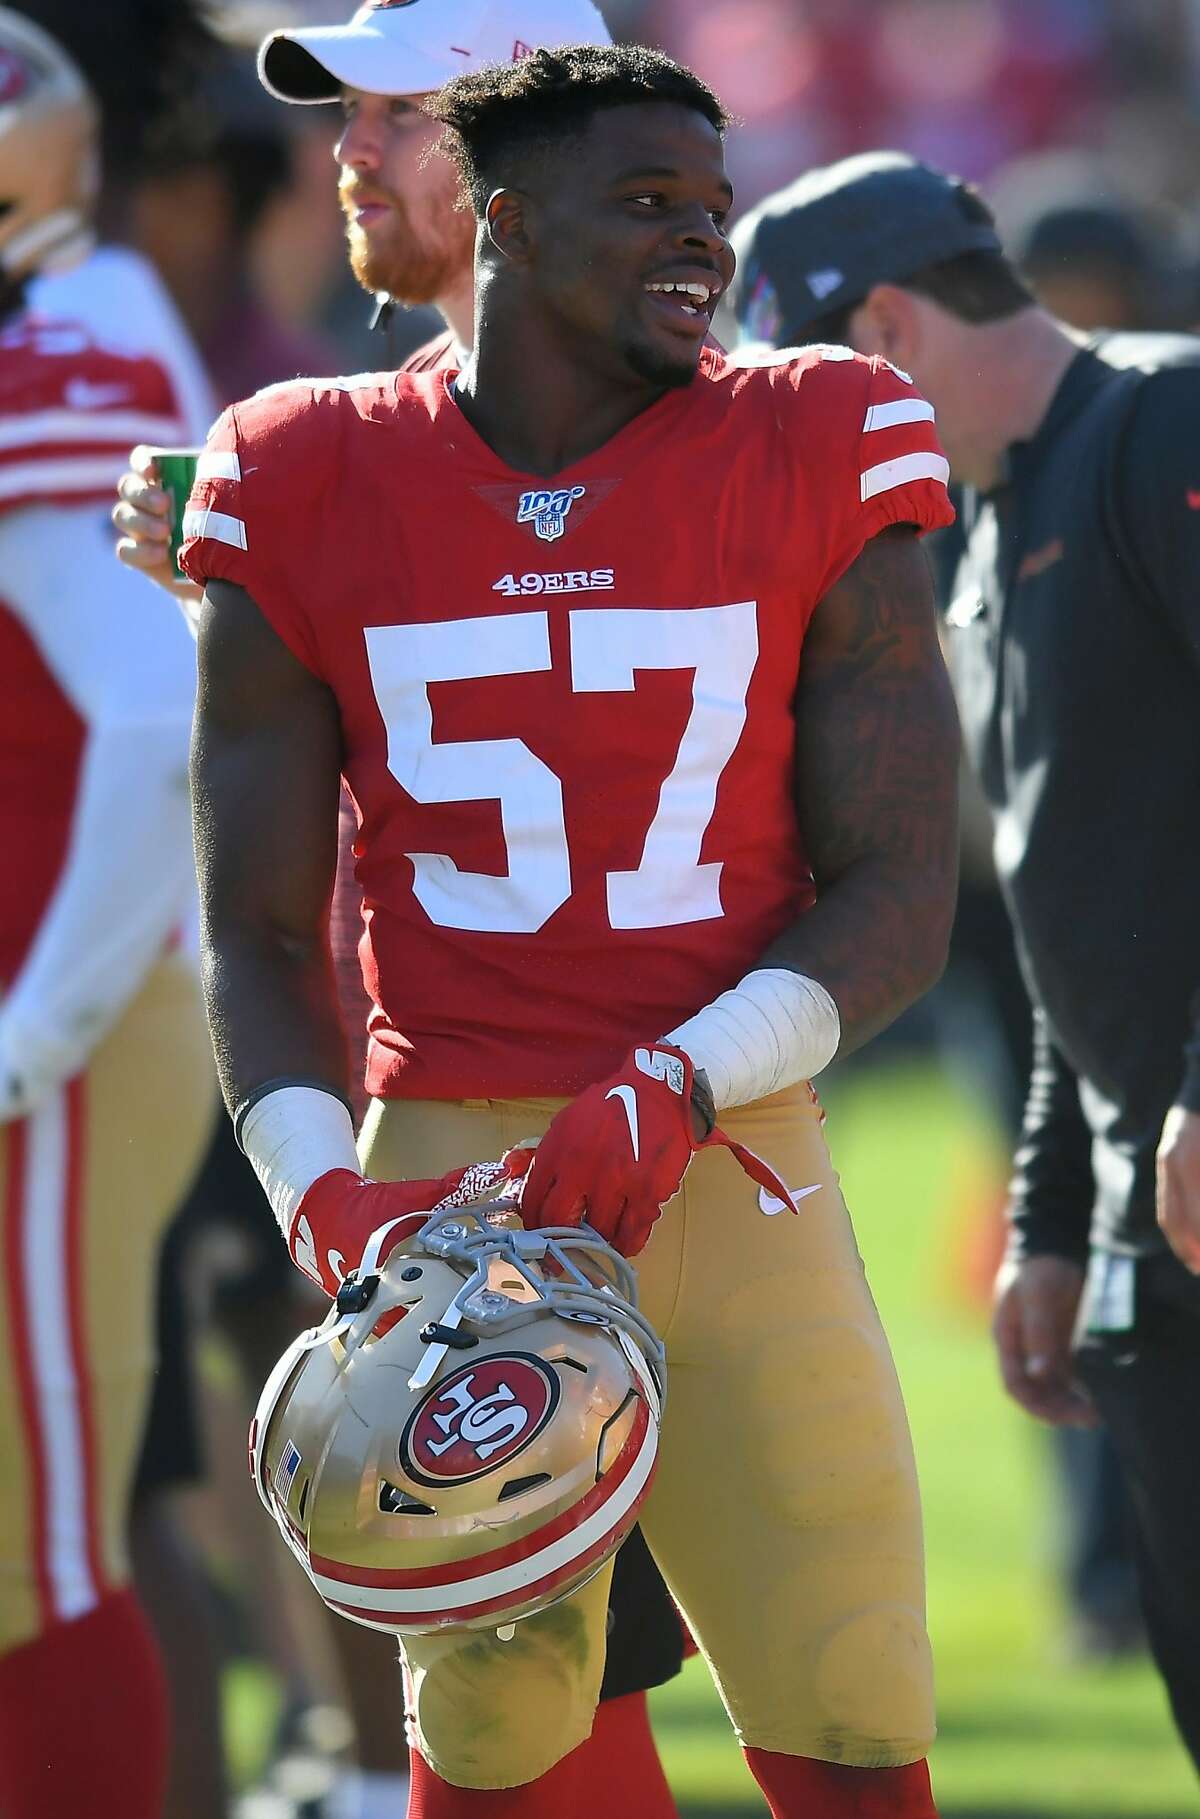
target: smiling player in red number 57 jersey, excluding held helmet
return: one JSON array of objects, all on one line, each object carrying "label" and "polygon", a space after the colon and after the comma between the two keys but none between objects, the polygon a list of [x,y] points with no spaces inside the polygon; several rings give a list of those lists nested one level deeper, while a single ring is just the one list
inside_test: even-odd
[{"label": "smiling player in red number 57 jersey, excluding held helmet", "polygon": [[[644,1526],[773,1812],[927,1819],[916,1475],[809,1080],[945,955],[933,411],[845,349],[705,347],[725,116],[667,58],[542,51],[433,111],[476,216],[473,358],[235,406],[187,515],[225,1099],[327,1291],[542,1137],[525,1224],[636,1255],[665,1337]],[[375,1179],[327,948],[338,771]],[[422,1819],[578,1810],[607,1581],[513,1643],[404,1639]]]}]

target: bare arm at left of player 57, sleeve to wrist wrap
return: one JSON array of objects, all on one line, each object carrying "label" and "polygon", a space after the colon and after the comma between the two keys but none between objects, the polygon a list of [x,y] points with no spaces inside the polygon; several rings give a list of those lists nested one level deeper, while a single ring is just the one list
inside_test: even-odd
[{"label": "bare arm at left of player 57, sleeve to wrist wrap", "polygon": [[345,1091],[329,959],[340,755],[325,684],[249,593],[209,582],[191,784],[205,999],[231,1111],[284,1075]]}]

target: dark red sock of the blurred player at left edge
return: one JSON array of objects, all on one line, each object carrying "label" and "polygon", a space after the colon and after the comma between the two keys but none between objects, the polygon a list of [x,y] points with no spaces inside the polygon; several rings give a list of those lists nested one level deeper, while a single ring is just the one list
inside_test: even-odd
[{"label": "dark red sock of the blurred player at left edge", "polygon": [[0,1655],[5,1819],[158,1819],[167,1692],[142,1606],[113,1592]]}]

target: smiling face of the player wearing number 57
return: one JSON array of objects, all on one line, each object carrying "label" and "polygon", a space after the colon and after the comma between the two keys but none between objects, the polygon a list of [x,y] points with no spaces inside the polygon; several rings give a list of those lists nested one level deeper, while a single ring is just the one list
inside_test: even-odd
[{"label": "smiling face of the player wearing number 57", "polygon": [[547,329],[655,386],[687,386],[733,278],[722,138],[676,102],[600,109],[527,186]]}]

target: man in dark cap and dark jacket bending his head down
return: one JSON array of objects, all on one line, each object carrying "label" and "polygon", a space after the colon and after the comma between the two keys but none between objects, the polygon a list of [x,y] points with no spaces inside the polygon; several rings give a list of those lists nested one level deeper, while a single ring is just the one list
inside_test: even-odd
[{"label": "man in dark cap and dark jacket bending his head down", "polygon": [[1200,1764],[1200,340],[1069,333],[976,193],[900,153],[807,173],[735,240],[744,340],[893,360],[971,489],[949,662],[1035,1008],[1000,1372],[1042,1421],[1107,1424]]}]

